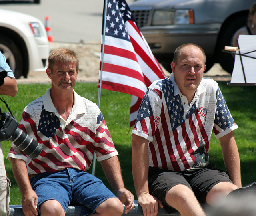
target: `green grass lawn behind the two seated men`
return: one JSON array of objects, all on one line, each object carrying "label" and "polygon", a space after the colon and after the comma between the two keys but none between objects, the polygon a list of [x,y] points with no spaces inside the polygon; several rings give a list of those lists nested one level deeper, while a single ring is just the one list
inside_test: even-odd
[{"label": "green grass lawn behind the two seated men", "polygon": [[[235,130],[235,137],[240,152],[242,184],[246,186],[256,180],[256,115],[254,113],[256,110],[256,87],[228,87],[226,82],[220,81],[218,83],[230,112],[239,127]],[[24,107],[43,95],[50,88],[50,84],[19,84],[18,88],[19,91],[16,97],[4,96],[4,99],[14,116],[19,120]],[[75,91],[79,95],[97,103],[97,83],[77,83]],[[129,127],[130,99],[131,95],[102,89],[100,109],[112,135],[115,147],[119,152],[119,160],[126,188],[136,195],[131,168],[132,137],[130,136],[131,129]],[[0,105],[2,111],[7,111],[2,102]],[[6,158],[11,143],[4,141],[2,142],[2,146]],[[215,163],[218,168],[225,169],[220,145],[214,134],[211,139],[209,157],[210,162]],[[12,174],[12,164],[7,159],[5,160],[5,164],[7,175],[12,182],[10,204],[21,204],[20,191]],[[92,167],[89,172],[92,172]],[[111,189],[98,162],[96,162],[95,175],[102,179],[108,188]]]}]

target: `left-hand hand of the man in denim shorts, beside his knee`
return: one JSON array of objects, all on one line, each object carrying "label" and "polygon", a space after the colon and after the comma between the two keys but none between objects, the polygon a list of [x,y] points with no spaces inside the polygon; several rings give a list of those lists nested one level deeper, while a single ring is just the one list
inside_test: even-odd
[{"label": "left-hand hand of the man in denim shorts, beside his knee", "polygon": [[38,215],[38,196],[34,190],[28,190],[22,196],[22,210],[26,216]]}]

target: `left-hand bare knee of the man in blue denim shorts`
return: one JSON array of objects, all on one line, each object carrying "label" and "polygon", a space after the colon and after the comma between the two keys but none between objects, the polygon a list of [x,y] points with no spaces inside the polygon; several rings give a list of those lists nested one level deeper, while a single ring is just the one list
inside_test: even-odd
[{"label": "left-hand bare knee of the man in blue denim shorts", "polygon": [[42,216],[65,216],[62,205],[57,200],[47,200],[40,205],[40,213]]}]

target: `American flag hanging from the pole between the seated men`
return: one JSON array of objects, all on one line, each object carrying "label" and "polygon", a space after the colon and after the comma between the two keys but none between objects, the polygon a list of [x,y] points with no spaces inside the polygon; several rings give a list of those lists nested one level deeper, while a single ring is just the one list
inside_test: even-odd
[{"label": "American flag hanging from the pole between the seated men", "polygon": [[153,81],[164,79],[165,75],[136,26],[125,0],[107,0],[105,4],[105,29],[104,18],[102,22],[102,88],[132,95],[130,126],[133,126],[146,89]]}]

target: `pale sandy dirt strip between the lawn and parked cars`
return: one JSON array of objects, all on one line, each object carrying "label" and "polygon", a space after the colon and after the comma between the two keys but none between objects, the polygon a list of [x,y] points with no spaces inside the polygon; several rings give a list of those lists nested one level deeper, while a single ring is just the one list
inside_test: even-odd
[{"label": "pale sandy dirt strip between the lawn and parked cars", "polygon": [[[54,50],[59,47],[66,47],[74,50],[79,57],[79,73],[77,81],[84,82],[97,82],[100,68],[100,42],[91,42],[89,44],[76,44],[76,43],[64,43],[64,42],[52,42],[50,43],[50,50]],[[165,69],[164,73],[169,76]],[[230,81],[231,75],[224,71],[219,64],[215,64],[204,77],[212,78],[216,81]],[[46,72],[38,72],[29,74],[28,78],[20,78],[18,83],[50,83],[50,79],[47,77]]]}]

